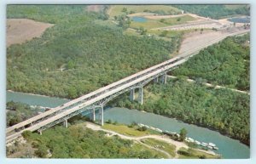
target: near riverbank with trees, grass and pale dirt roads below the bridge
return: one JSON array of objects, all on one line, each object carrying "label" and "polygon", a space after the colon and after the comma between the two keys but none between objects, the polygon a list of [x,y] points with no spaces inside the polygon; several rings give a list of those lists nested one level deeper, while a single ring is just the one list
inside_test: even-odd
[{"label": "near riverbank with trees, grass and pale dirt roads below the bridge", "polygon": [[[109,124],[109,121],[102,128],[88,121],[87,117],[75,116],[75,118],[69,120],[68,128],[60,125],[55,126],[45,130],[43,135],[26,131],[22,133],[23,138],[7,146],[7,156],[10,158],[220,158],[218,154],[212,151],[197,150],[195,148],[189,149],[189,146],[183,142],[169,139],[169,137],[164,137],[162,134],[152,130],[144,132],[142,129],[139,130],[136,127],[120,125],[116,122]],[[130,135],[126,135],[127,128],[129,128]],[[124,134],[121,134],[122,132]],[[97,135],[99,136],[97,137]],[[102,142],[105,144],[107,143],[109,149],[102,149],[97,144],[84,147],[85,142],[95,143],[92,140],[98,139],[102,139]],[[151,142],[148,144],[149,139],[151,139]],[[75,148],[73,147],[74,143],[77,143]],[[174,148],[173,144],[176,145]],[[90,147],[94,147],[96,150],[101,148],[102,150],[94,154],[90,151]],[[67,150],[73,149],[79,149],[79,154],[67,153]],[[185,152],[183,153],[183,151]],[[112,155],[110,156],[110,154]],[[113,156],[114,154],[115,156]]]}]

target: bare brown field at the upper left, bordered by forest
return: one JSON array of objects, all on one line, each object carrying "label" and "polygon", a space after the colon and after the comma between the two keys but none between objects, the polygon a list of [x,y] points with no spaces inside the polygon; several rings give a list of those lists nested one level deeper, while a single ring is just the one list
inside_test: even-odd
[{"label": "bare brown field at the upper left, bordered by forest", "polygon": [[52,24],[27,19],[7,20],[7,47],[40,37]]}]

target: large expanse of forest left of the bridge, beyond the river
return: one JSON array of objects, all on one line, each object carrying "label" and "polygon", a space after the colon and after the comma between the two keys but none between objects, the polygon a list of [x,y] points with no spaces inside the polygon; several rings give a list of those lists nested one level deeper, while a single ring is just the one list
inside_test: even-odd
[{"label": "large expanse of forest left of the bridge, beyond the river", "polygon": [[123,35],[119,27],[97,25],[102,14],[84,6],[8,7],[9,18],[55,25],[40,38],[7,49],[7,88],[76,98],[170,58],[173,42]]}]

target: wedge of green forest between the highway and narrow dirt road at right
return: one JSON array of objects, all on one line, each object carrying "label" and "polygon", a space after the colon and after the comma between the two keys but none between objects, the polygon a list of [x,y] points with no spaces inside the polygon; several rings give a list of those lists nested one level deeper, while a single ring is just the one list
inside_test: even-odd
[{"label": "wedge of green forest between the highway and narrow dirt road at right", "polygon": [[250,90],[250,41],[249,34],[242,37],[229,37],[202,50],[176,70],[174,76],[189,78]]}]

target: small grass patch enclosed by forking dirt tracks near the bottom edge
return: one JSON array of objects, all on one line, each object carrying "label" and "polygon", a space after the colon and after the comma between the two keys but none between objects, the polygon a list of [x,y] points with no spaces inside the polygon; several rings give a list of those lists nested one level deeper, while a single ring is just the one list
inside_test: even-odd
[{"label": "small grass patch enclosed by forking dirt tracks near the bottom edge", "polygon": [[151,145],[155,148],[158,148],[160,150],[165,150],[168,152],[172,157],[176,155],[176,146],[173,144],[167,144],[166,142],[162,142],[156,139],[143,139],[144,144]]}]

